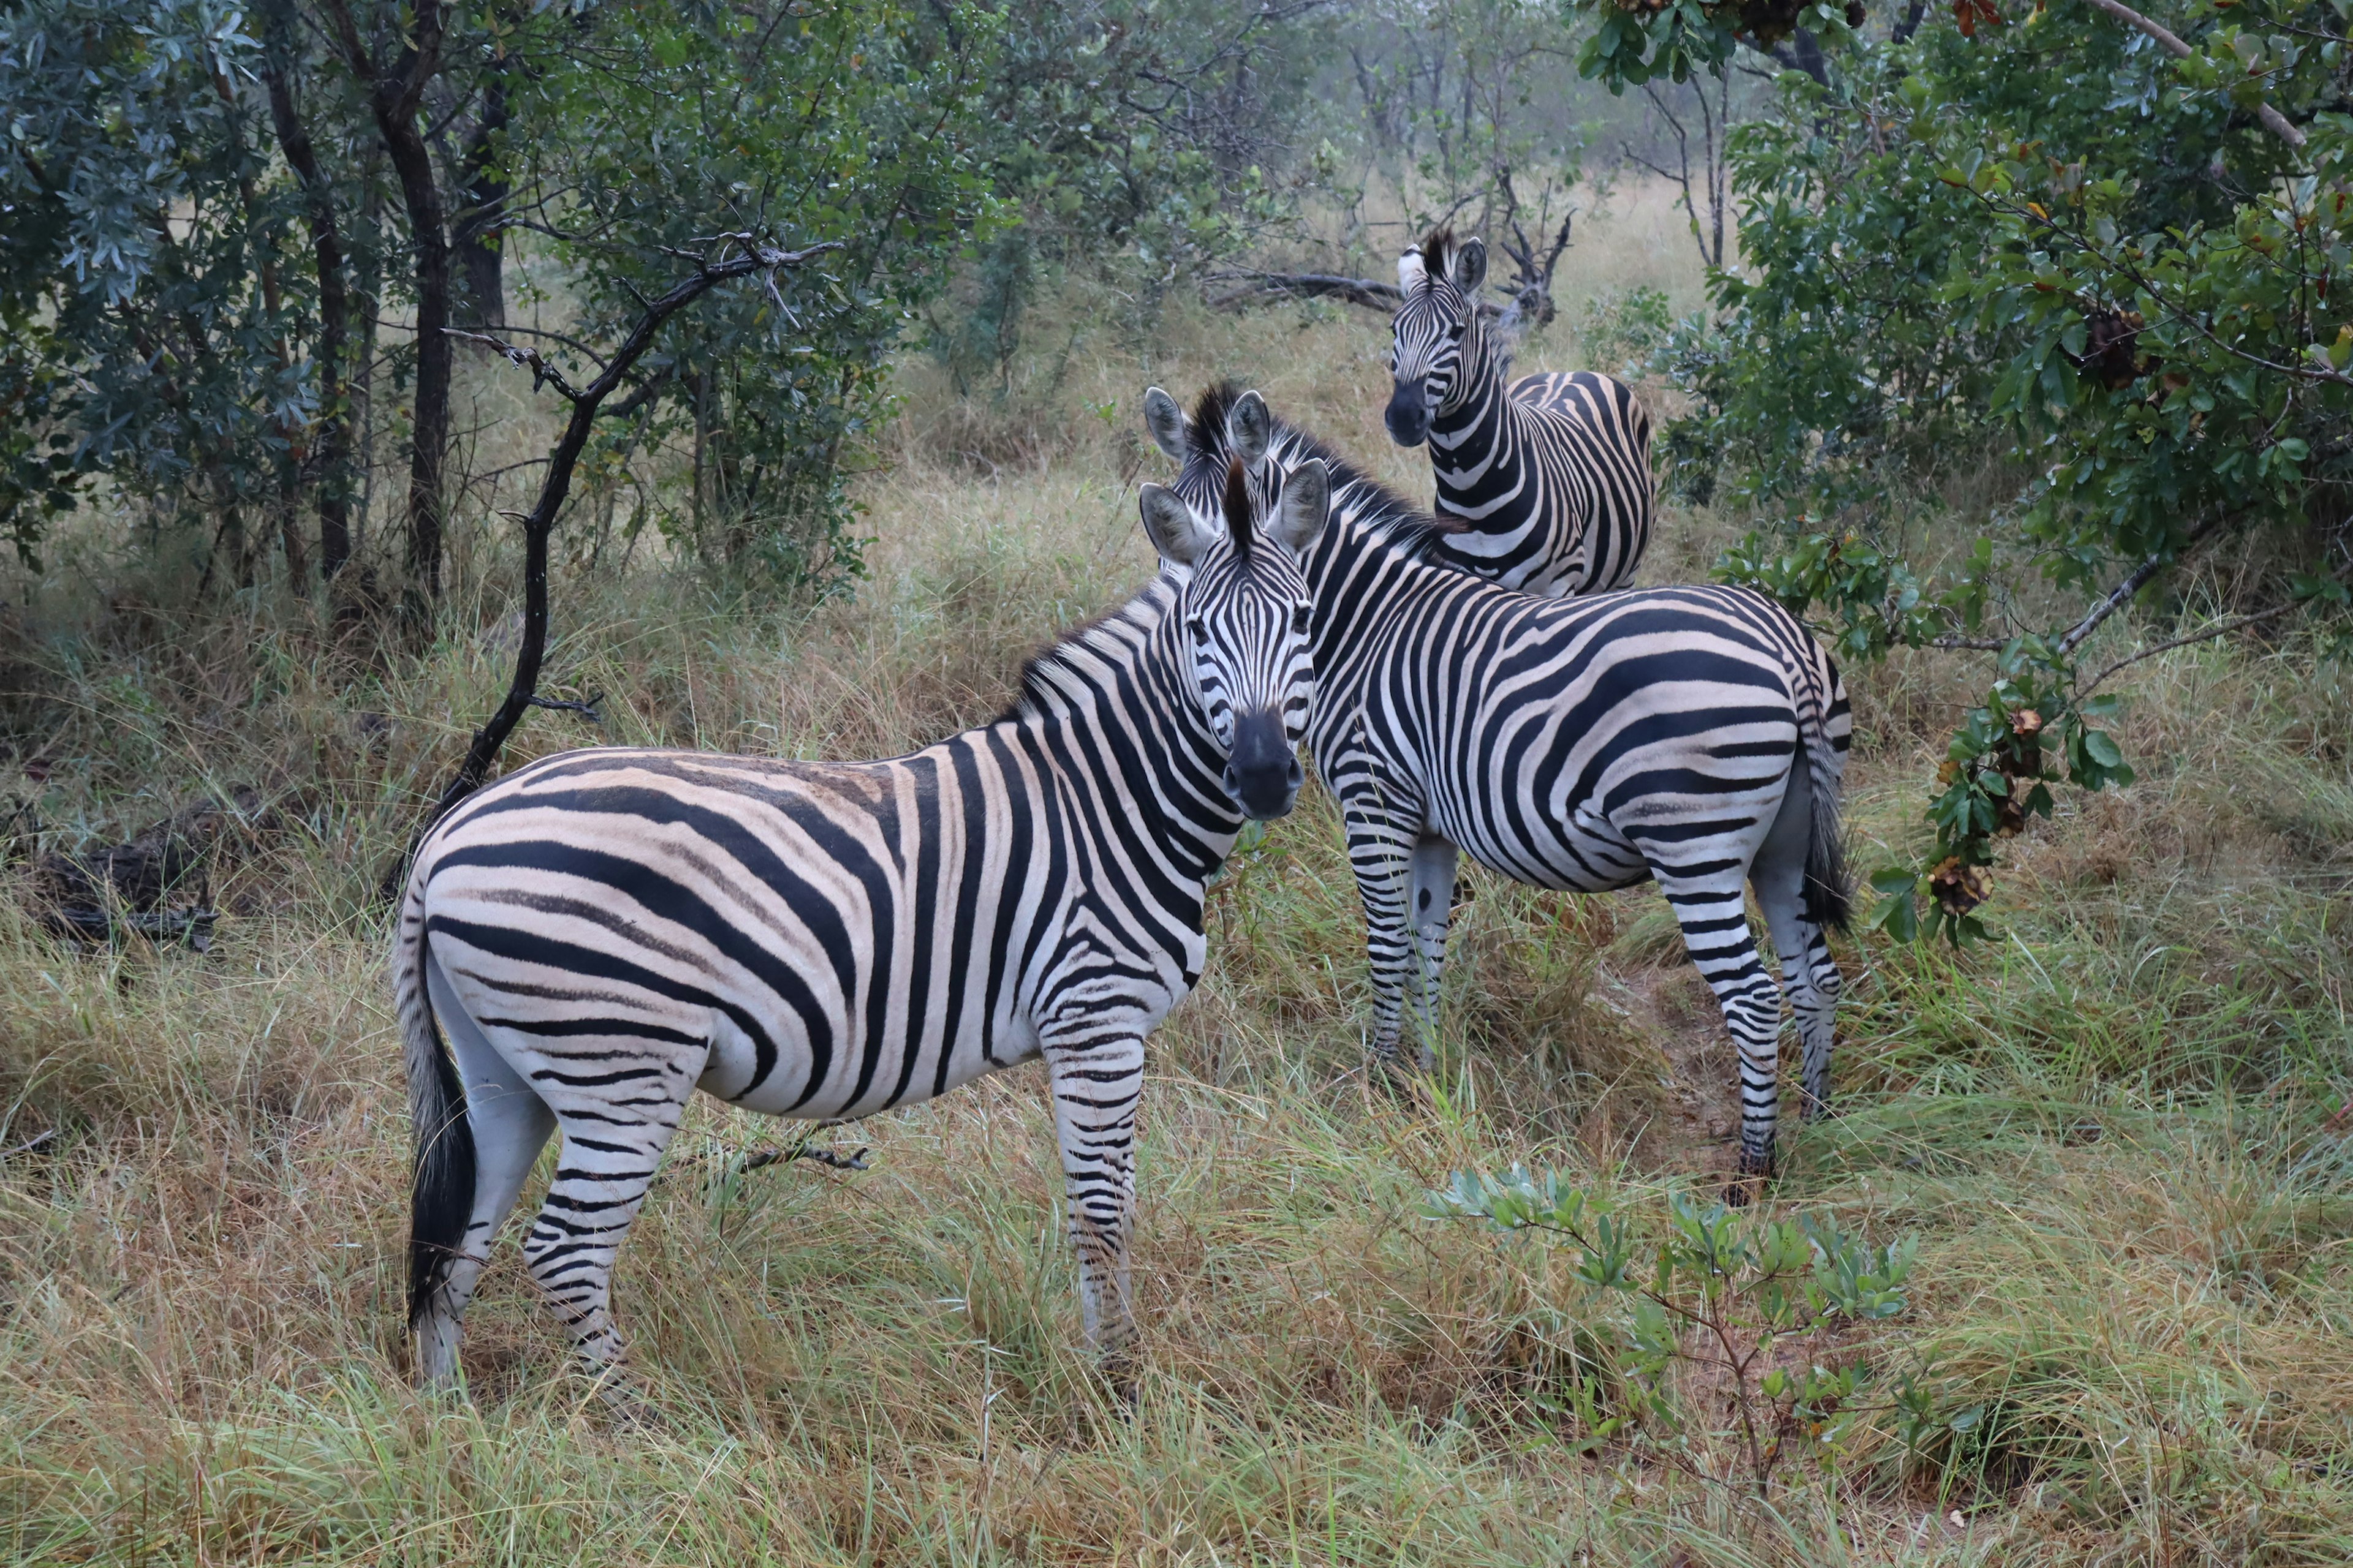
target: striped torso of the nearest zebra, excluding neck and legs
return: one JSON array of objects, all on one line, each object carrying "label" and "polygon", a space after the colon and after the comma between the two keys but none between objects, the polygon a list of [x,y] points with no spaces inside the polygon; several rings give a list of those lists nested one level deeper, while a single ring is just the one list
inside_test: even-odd
[{"label": "striped torso of the nearest zebra, excluding neck and legs", "polygon": [[1035,1053],[1068,912],[1059,835],[976,766],[551,759],[431,844],[428,940],[558,1112],[652,1072],[781,1117],[927,1100]]}]

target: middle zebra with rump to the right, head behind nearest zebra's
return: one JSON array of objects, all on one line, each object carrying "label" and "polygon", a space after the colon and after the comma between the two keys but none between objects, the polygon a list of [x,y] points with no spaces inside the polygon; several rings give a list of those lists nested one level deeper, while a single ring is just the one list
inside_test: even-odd
[{"label": "middle zebra with rump to the right, head behind nearest zebra's", "polygon": [[[1805,1105],[1828,1107],[1847,919],[1840,780],[1852,719],[1838,668],[1774,599],[1652,588],[1537,599],[1438,564],[1417,515],[1257,393],[1212,388],[1191,418],[1151,388],[1146,423],[1217,505],[1235,461],[1280,498],[1313,465],[1332,522],[1308,555],[1315,717],[1372,957],[1372,1051],[1400,1063],[1414,985],[1431,1067],[1457,851],[1534,886],[1593,893],[1654,879],[1741,1058],[1741,1171],[1772,1175],[1781,994],[1744,882],[1781,954],[1805,1044]],[[1264,505],[1264,501],[1261,501]]]}]

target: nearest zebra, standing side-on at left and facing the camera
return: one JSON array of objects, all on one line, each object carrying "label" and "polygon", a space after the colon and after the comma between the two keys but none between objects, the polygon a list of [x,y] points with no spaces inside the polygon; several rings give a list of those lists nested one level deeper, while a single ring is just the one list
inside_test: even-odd
[{"label": "nearest zebra, standing side-on at left and facing the camera", "polygon": [[[614,1253],[694,1088],[852,1121],[1042,1056],[1087,1340],[1132,1396],[1144,1037],[1205,961],[1202,886],[1292,809],[1313,698],[1313,463],[1219,517],[1139,491],[1162,567],[1033,658],[993,724],[892,762],[579,750],[419,849],[393,990],[409,1077],[409,1326],[426,1387],[548,1133],[522,1251],[607,1399],[638,1408]],[[445,1044],[447,1032],[447,1044]]]}]

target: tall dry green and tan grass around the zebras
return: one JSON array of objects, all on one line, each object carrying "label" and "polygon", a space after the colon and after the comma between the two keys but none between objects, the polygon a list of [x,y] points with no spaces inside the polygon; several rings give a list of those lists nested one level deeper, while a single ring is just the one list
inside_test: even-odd
[{"label": "tall dry green and tan grass around the zebras", "polygon": [[[1628,261],[1588,244],[1617,287]],[[1111,327],[1071,341],[1002,404],[911,369],[849,602],[647,555],[567,571],[551,670],[607,724],[536,712],[511,759],[875,755],[986,717],[1024,651],[1148,569],[1120,480],[1158,473],[1127,430],[1146,378],[1254,369],[1424,484],[1379,440],[1369,322],[1179,313],[1151,360]],[[520,456],[544,425],[499,430]],[[473,527],[416,658],[268,595],[191,616],[113,564],[104,520],[7,628],[0,795],[38,804],[38,846],[238,783],[273,802],[207,957],[85,957],[0,912],[7,1561],[2353,1559],[2353,698],[2294,646],[2132,670],[2144,778],[2012,846],[2000,943],[1842,945],[1842,1114],[1786,1126],[1769,1201],[1920,1239],[1911,1312],[1840,1354],[1927,1368],[1960,1425],[1908,1448],[1875,1422],[1765,1514],[1649,1448],[1581,1453],[1565,1368],[1609,1321],[1560,1253],[1421,1218],[1466,1166],[1562,1166],[1645,1222],[1713,1187],[1729,1048],[1657,898],[1473,877],[1438,1091],[1407,1105],[1362,1077],[1355,896],[1313,795],[1214,891],[1209,973],[1153,1041],[1132,1418],[1078,1347],[1035,1072],[821,1135],[871,1145],[864,1173],[746,1173],[795,1128],[699,1103],[616,1291],[659,1427],[612,1427],[565,1375],[511,1244],[468,1316],[473,1403],[419,1403],[367,893],[504,684],[513,564]],[[1732,529],[1668,515],[1654,574]],[[1969,679],[1849,679],[1868,870],[1925,837],[1927,748]]]}]

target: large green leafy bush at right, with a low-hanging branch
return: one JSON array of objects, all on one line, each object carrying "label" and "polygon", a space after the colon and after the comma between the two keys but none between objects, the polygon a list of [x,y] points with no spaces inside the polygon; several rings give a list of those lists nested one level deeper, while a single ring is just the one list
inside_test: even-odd
[{"label": "large green leafy bush at right, with a low-hanging branch", "polygon": [[[2346,597],[2341,21],[2172,21],[2186,61],[2071,7],[1859,45],[1826,85],[1784,73],[1779,113],[1734,139],[1746,275],[1718,275],[1718,320],[1666,355],[1699,397],[1668,444],[1777,517],[1725,576],[1824,607],[1842,658],[1993,656],[1932,853],[1873,879],[1875,924],[1904,938],[1986,936],[1998,837],[2047,816],[2052,783],[2132,780],[2099,691],[2120,665],[2085,661],[2118,609],[2221,548],[2287,569],[2191,637]],[[2247,113],[2261,101],[2301,148]],[[1969,463],[2012,498],[1908,531],[1899,498]]]}]

